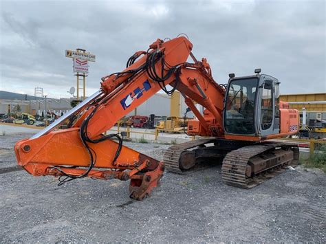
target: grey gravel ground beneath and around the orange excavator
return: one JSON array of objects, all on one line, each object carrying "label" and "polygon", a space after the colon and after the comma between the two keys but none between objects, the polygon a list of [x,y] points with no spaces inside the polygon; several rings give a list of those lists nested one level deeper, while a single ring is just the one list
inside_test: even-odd
[{"label": "grey gravel ground beneath and around the orange excavator", "polygon": [[[0,168],[16,164],[12,146],[28,135],[0,137]],[[162,159],[168,145],[125,145]],[[326,178],[300,166],[251,190],[226,186],[221,167],[165,173],[144,201],[128,181],[1,174],[0,243],[310,242],[325,243]]]}]

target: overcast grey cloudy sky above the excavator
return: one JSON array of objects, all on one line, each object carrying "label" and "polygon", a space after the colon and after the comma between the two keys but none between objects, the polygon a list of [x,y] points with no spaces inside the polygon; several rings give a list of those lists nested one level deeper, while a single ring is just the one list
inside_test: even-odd
[{"label": "overcast grey cloudy sky above the excavator", "polygon": [[69,97],[76,86],[65,49],[96,54],[87,95],[156,38],[186,33],[217,82],[260,67],[281,93],[326,92],[325,1],[5,1],[0,90]]}]

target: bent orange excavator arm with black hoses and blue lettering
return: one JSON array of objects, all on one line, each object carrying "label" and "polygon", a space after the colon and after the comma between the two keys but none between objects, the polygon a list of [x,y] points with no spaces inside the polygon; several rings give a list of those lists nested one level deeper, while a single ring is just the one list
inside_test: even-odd
[{"label": "bent orange excavator arm with black hoses and blue lettering", "polygon": [[[126,69],[102,78],[101,89],[93,96],[40,133],[17,142],[18,164],[35,176],[59,177],[59,185],[83,177],[131,179],[131,198],[141,200],[150,195],[162,177],[164,164],[123,146],[120,135],[105,133],[160,89],[169,94],[177,89],[203,130],[208,135],[223,135],[224,89],[213,80],[206,60],[195,59],[192,47],[181,36],[166,42],[157,39],[147,52],[136,52]],[[187,63],[188,56],[195,62]],[[166,85],[172,89],[168,91]],[[194,102],[206,107],[213,122],[204,120]],[[69,128],[57,130],[64,120],[69,120]]]}]

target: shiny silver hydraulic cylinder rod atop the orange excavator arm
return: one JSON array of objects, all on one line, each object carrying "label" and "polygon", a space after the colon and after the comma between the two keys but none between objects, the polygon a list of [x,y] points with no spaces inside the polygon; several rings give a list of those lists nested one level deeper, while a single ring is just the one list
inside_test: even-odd
[{"label": "shiny silver hydraulic cylinder rod atop the orange excavator arm", "polygon": [[94,99],[96,99],[99,96],[101,96],[102,93],[103,93],[102,90],[99,89],[98,91],[96,91],[96,93],[94,93],[93,95],[89,96],[87,99],[83,100],[83,102],[80,102],[80,104],[78,104],[76,107],[74,107],[73,109],[69,110],[67,113],[65,113],[60,118],[58,118],[58,120],[55,120],[52,124],[50,124],[49,126],[45,127],[42,131],[40,131],[39,133],[36,133],[32,137],[30,137],[30,139],[36,139],[36,138],[40,137],[41,135],[45,135],[45,134],[49,133],[58,124],[61,124],[61,122],[67,120],[67,118],[69,118],[70,115],[76,113],[77,111],[79,111],[80,109],[82,109],[85,105],[87,105],[89,102],[92,102]]}]

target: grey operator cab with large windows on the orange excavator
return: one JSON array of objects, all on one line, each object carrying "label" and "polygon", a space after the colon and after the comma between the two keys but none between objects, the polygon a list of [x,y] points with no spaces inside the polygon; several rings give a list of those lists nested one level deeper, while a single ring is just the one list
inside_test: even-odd
[{"label": "grey operator cab with large windows on the orange excavator", "polygon": [[260,74],[235,77],[229,74],[224,100],[226,135],[266,136],[279,127],[279,80]]}]

